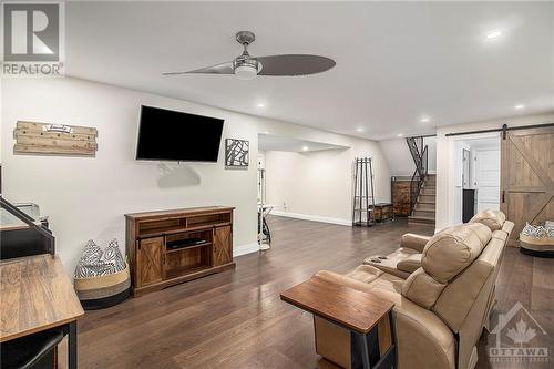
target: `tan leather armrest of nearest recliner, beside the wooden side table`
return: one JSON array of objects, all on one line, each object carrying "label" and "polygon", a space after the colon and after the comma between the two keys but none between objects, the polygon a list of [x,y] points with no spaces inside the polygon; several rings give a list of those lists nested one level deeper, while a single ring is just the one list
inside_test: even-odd
[{"label": "tan leather armrest of nearest recliner, beside the wooden side table", "polygon": [[[454,336],[433,311],[418,306],[398,293],[375,287],[370,283],[328,270],[321,270],[316,275],[394,304],[399,368],[455,368]],[[326,352],[319,353],[326,357]],[[330,353],[330,357],[332,355]]]}]

